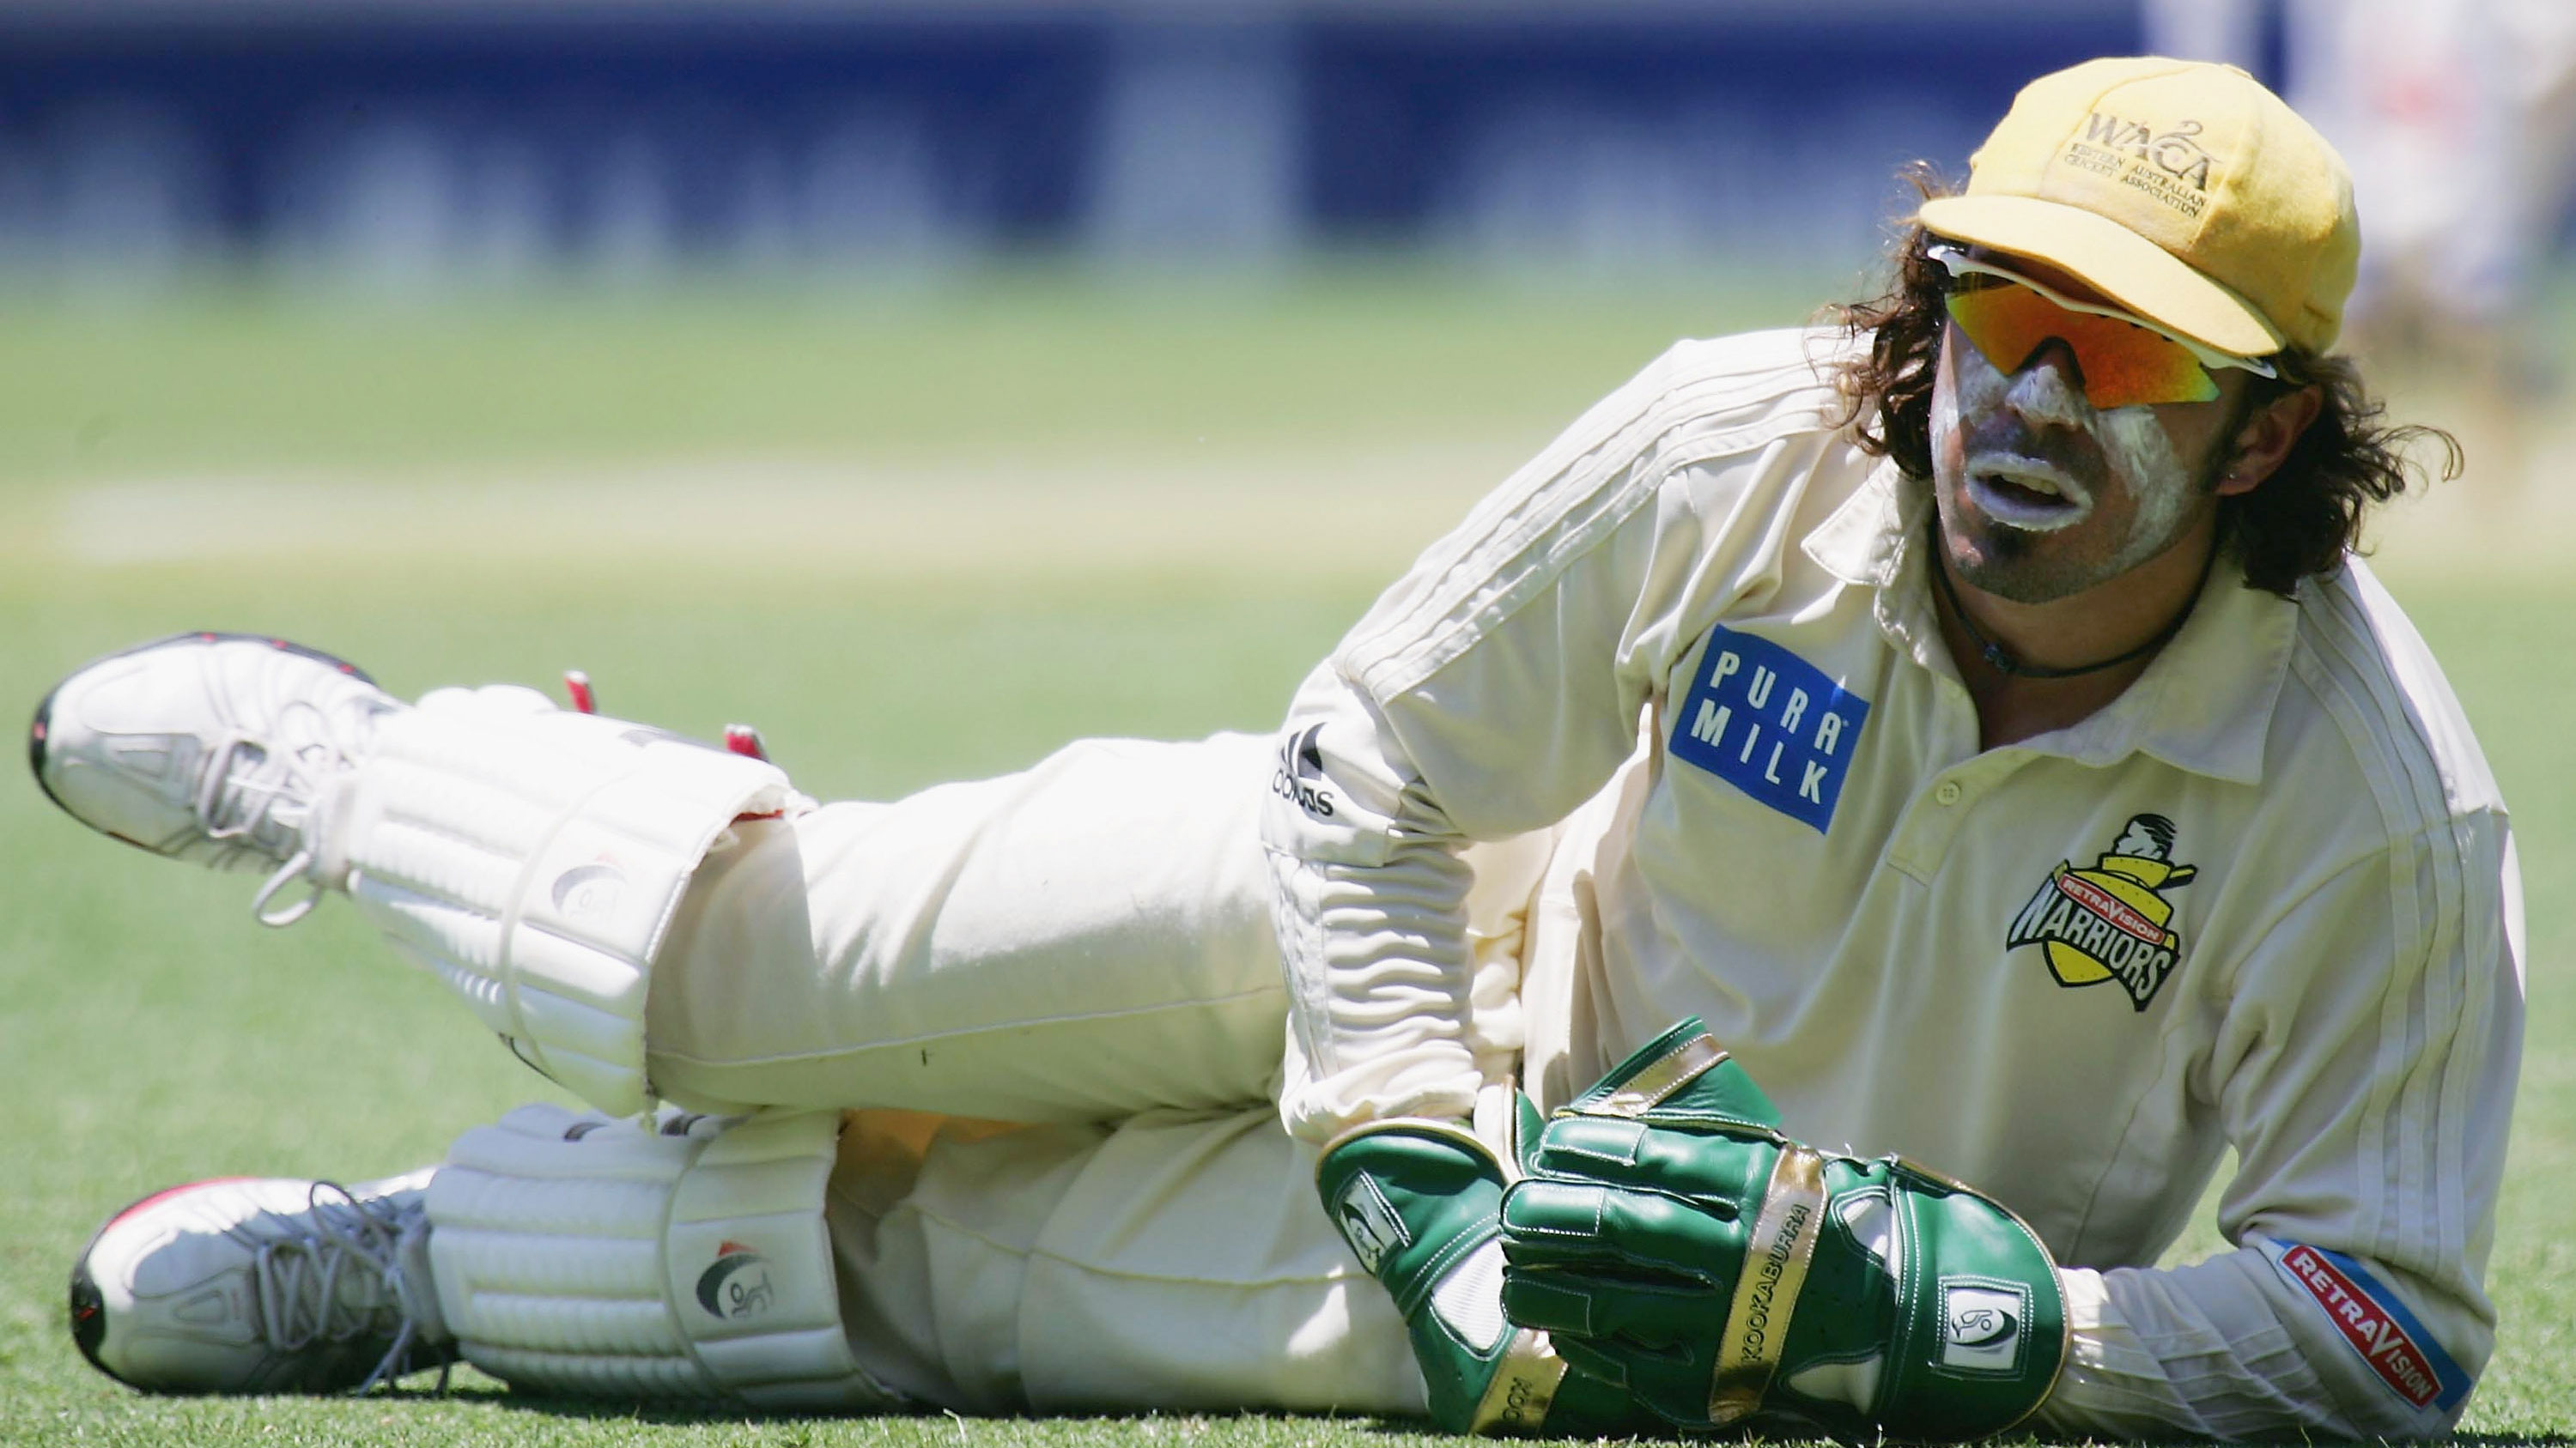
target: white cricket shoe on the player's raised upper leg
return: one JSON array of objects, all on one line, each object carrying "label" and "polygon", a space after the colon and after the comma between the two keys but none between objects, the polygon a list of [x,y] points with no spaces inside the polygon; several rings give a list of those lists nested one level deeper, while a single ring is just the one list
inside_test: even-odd
[{"label": "white cricket shoe on the player's raised upper leg", "polygon": [[26,755],[44,794],[93,830],[219,871],[270,871],[252,910],[286,925],[314,897],[268,902],[319,858],[317,801],[394,709],[404,703],[330,654],[180,634],[54,685]]}]

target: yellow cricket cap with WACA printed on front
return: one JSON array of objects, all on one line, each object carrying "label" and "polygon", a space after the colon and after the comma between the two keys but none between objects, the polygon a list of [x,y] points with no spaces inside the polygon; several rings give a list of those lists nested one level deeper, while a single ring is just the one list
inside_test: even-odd
[{"label": "yellow cricket cap with WACA printed on front", "polygon": [[1968,157],[1968,191],[1917,219],[2231,356],[2331,348],[2362,258],[2326,137],[2233,64],[2164,57],[2032,80]]}]

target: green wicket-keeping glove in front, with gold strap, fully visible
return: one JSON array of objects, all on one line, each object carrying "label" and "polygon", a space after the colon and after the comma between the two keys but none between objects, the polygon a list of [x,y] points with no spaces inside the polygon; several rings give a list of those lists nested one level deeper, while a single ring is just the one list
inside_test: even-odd
[{"label": "green wicket-keeping glove in front, with gold strap, fully visible", "polygon": [[1901,1157],[1829,1157],[1682,1020],[1546,1123],[1502,1203],[1502,1304],[1685,1430],[1963,1440],[2048,1396],[2038,1234]]}]

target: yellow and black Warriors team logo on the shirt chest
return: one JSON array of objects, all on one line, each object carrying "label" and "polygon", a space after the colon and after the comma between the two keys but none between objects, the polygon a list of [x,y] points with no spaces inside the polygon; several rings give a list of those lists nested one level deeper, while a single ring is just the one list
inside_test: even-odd
[{"label": "yellow and black Warriors team logo on the shirt chest", "polygon": [[2012,917],[2004,948],[2038,946],[2063,987],[2120,982],[2146,1010],[2182,958],[2182,935],[2164,925],[2174,904],[2164,891],[2200,871],[2174,863],[2174,822],[2138,814],[2089,871],[2058,861],[2048,884]]}]

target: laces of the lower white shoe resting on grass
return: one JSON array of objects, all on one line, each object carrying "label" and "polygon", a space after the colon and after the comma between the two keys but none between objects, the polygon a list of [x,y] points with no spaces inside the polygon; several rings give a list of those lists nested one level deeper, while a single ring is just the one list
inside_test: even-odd
[{"label": "laces of the lower white shoe resting on grass", "polygon": [[[340,1183],[314,1183],[307,1206],[304,1221],[270,1216],[286,1224],[283,1234],[234,1232],[255,1250],[250,1275],[260,1293],[260,1335],[278,1353],[392,1335],[376,1368],[350,1389],[363,1394],[410,1371],[420,1345],[425,1311],[417,1293],[435,1286],[415,1283],[404,1260],[428,1237],[430,1219],[417,1203],[358,1198]],[[376,1278],[376,1291],[358,1281],[366,1275]],[[438,1391],[446,1391],[456,1358],[446,1345],[435,1353]]]}]

